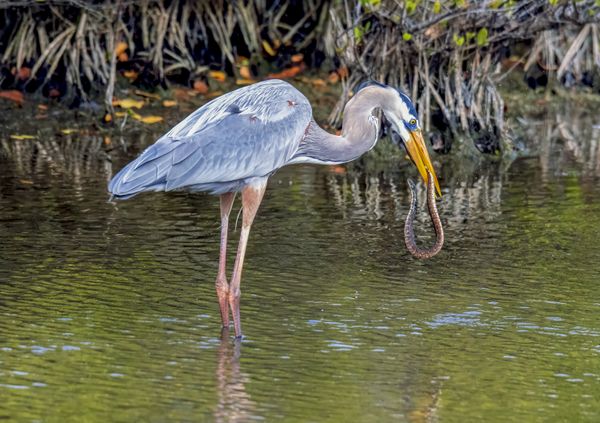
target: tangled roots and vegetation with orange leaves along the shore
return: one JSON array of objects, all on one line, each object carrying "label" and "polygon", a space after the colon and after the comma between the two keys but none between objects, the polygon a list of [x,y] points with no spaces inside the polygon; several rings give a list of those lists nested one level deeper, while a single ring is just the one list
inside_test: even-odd
[{"label": "tangled roots and vegetation with orange leaves along the shore", "polygon": [[600,92],[598,22],[598,0],[7,0],[0,97],[40,92],[79,106],[102,96],[111,121],[117,84],[210,95],[224,80],[325,68],[316,86],[342,84],[334,125],[371,78],[412,96],[438,150],[469,134],[494,152],[507,138],[498,87],[512,69],[531,87]]}]

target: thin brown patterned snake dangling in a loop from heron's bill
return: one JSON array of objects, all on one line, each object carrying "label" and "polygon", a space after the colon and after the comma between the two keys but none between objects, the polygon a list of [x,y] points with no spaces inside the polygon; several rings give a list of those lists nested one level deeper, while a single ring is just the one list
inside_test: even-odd
[{"label": "thin brown patterned snake dangling in a loop from heron's bill", "polygon": [[433,185],[433,176],[429,171],[427,171],[427,206],[429,208],[431,223],[433,223],[433,228],[435,229],[436,240],[435,244],[427,249],[419,248],[415,241],[413,222],[417,212],[416,187],[412,180],[409,179],[407,182],[410,190],[410,209],[408,211],[408,216],[406,216],[406,222],[404,223],[404,243],[406,244],[408,251],[415,258],[428,259],[439,253],[444,245],[444,228],[442,228],[442,221],[435,204],[435,187]]}]

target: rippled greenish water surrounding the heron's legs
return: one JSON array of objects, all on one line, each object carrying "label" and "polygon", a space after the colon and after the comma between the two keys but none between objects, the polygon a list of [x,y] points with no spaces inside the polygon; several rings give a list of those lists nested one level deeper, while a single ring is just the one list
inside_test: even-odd
[{"label": "rippled greenish water surrounding the heron's legs", "polygon": [[524,122],[532,154],[510,166],[437,159],[428,261],[403,245],[405,161],[277,173],[241,343],[220,336],[218,201],[106,202],[156,134],[4,137],[0,418],[598,421],[600,131],[574,115]]}]

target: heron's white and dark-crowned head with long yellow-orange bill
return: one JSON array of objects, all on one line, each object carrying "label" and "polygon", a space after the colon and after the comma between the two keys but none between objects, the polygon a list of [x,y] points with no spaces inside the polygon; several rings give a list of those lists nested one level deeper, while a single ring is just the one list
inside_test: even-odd
[{"label": "heron's white and dark-crowned head with long yellow-orange bill", "polygon": [[359,90],[365,86],[377,85],[385,89],[385,98],[381,99],[381,108],[386,119],[391,123],[392,141],[402,143],[408,156],[415,164],[421,177],[427,183],[428,171],[433,176],[438,195],[442,195],[435,169],[429,158],[427,146],[419,123],[419,116],[410,98],[400,91],[379,82],[363,82]]}]

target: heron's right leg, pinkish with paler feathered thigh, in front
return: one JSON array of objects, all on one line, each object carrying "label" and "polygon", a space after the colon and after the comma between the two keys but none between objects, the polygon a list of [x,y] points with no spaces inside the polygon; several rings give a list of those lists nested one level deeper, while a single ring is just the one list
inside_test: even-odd
[{"label": "heron's right leg, pinkish with paler feathered thigh, in front", "polygon": [[229,306],[233,316],[233,326],[235,328],[236,338],[242,336],[242,325],[240,323],[240,282],[242,280],[242,267],[244,266],[244,256],[246,255],[246,245],[248,243],[248,235],[250,227],[256,216],[256,211],[260,206],[265,188],[267,187],[266,179],[260,183],[248,185],[242,190],[242,231],[240,234],[240,243],[238,252],[233,266],[233,274],[231,276],[231,284],[229,285]]}]

